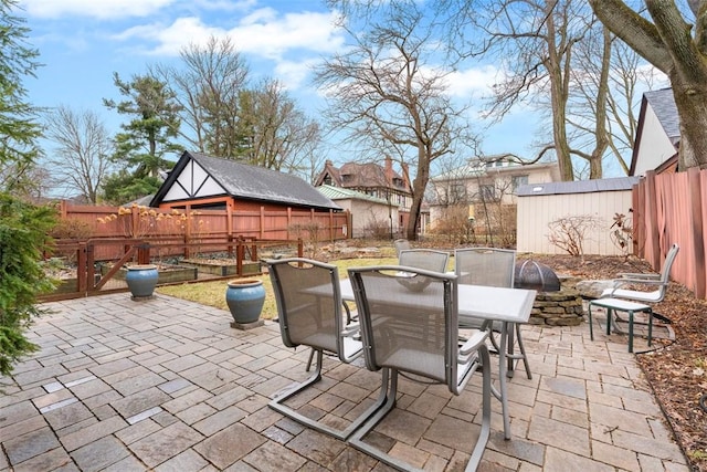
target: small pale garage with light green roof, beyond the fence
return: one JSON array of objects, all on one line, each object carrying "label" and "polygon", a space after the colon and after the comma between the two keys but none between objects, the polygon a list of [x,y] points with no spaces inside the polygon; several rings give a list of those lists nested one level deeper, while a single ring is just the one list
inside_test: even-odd
[{"label": "small pale garage with light green roof, beyond the fence", "polygon": [[351,213],[351,238],[393,238],[402,231],[400,207],[383,199],[340,187],[323,185],[317,190]]}]

